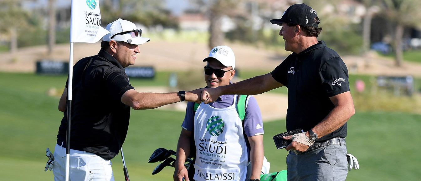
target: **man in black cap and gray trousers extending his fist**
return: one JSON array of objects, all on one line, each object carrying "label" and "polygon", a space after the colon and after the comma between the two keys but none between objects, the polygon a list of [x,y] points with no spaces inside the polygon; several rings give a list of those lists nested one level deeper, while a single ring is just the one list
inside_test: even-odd
[{"label": "man in black cap and gray trousers extending his fist", "polygon": [[282,18],[279,35],[285,50],[293,52],[271,73],[203,89],[202,100],[213,102],[222,94],[254,95],[288,87],[287,131],[303,133],[284,137],[293,142],[285,149],[288,181],[343,181],[348,173],[346,121],[354,115],[344,61],[325,42],[317,12],[305,4],[291,5]]}]

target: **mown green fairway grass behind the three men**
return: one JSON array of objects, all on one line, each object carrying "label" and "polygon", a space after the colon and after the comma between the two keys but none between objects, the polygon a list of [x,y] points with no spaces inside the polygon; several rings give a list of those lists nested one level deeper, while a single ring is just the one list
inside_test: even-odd
[{"label": "mown green fairway grass behind the three men", "polygon": [[[165,85],[168,73],[157,81],[131,80],[136,86]],[[62,90],[67,76],[0,73],[0,178],[7,181],[53,180],[44,172],[45,148],[53,151],[63,114],[59,97],[47,95],[51,87]],[[152,152],[176,149],[183,112],[132,110],[123,150],[131,181],[170,181],[173,168],[152,175],[158,163],[147,163]],[[346,145],[358,158],[360,170],[349,171],[347,181],[418,180],[421,177],[421,115],[391,112],[357,112],[348,122]],[[272,136],[285,131],[285,120],[264,123],[265,156],[271,172],[286,169],[287,151],[276,150]],[[123,181],[121,156],[112,159],[116,181]]]}]

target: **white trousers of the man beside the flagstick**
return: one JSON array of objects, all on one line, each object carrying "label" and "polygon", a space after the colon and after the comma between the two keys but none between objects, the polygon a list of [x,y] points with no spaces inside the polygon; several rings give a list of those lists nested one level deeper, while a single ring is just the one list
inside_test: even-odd
[{"label": "white trousers of the man beside the flagstick", "polygon": [[[54,181],[64,181],[66,148],[56,144],[54,160]],[[93,153],[70,149],[69,181],[114,181],[111,161]]]}]

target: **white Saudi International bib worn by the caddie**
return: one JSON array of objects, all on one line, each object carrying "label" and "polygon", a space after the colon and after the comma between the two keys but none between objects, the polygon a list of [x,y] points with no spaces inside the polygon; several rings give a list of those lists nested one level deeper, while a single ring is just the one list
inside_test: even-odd
[{"label": "white Saudi International bib worn by the caddie", "polygon": [[222,109],[201,103],[195,112],[194,133],[196,181],[245,181],[248,153],[235,101]]}]

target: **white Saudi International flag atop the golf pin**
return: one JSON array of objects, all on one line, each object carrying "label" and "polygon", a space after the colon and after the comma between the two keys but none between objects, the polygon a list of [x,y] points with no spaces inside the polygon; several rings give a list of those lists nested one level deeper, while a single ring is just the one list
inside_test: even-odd
[{"label": "white Saudi International flag atop the golf pin", "polygon": [[99,0],[72,0],[70,42],[96,43],[109,31],[102,28]]}]

